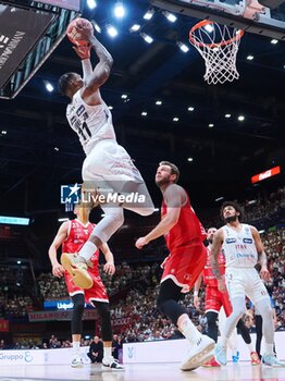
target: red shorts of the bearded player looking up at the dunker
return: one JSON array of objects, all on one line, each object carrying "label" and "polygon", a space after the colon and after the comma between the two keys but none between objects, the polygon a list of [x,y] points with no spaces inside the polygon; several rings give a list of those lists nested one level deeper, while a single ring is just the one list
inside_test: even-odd
[{"label": "red shorts of the bearded player looking up at the dunker", "polygon": [[207,249],[201,239],[193,241],[186,247],[179,247],[171,253],[164,263],[161,283],[166,279],[183,287],[182,293],[188,293],[197,278],[202,272],[207,260]]}]

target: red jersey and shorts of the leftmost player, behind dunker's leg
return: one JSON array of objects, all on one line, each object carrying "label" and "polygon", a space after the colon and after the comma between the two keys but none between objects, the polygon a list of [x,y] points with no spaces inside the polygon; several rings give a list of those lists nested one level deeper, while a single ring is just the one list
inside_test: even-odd
[{"label": "red jersey and shorts of the leftmost player, behind dunker's leg", "polygon": [[[94,228],[95,225],[90,222],[85,225],[77,219],[70,221],[69,235],[62,244],[62,253],[78,253],[86,241],[89,238],[89,235],[92,233]],[[85,302],[90,304],[92,304],[92,300],[109,303],[107,291],[101,281],[98,269],[99,250],[97,250],[91,256],[90,261],[92,262],[92,268],[88,268],[88,273],[94,281],[92,287],[88,290],[78,287],[74,284],[72,276],[65,270],[64,278],[69,294],[70,296],[73,296],[75,294],[84,294]]]}]

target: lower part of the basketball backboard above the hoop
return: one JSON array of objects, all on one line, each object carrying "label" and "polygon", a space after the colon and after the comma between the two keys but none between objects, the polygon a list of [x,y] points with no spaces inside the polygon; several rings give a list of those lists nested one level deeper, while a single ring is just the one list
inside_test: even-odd
[{"label": "lower part of the basketball backboard above the hoop", "polygon": [[285,40],[285,0],[150,0],[158,8]]}]

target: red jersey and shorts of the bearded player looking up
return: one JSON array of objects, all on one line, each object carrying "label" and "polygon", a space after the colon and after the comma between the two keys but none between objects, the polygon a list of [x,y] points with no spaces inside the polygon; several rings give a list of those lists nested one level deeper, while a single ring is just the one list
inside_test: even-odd
[{"label": "red jersey and shorts of the bearded player looking up", "polygon": [[[168,206],[163,200],[161,219],[166,212]],[[206,265],[207,250],[202,243],[206,236],[187,196],[187,202],[181,208],[178,222],[164,236],[170,256],[165,261],[161,282],[172,279],[183,287],[182,292],[190,291]]]}]

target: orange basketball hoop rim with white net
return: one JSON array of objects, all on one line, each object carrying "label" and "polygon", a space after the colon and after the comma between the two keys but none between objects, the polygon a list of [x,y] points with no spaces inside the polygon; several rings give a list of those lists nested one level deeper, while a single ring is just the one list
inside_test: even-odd
[{"label": "orange basketball hoop rim with white net", "polygon": [[203,20],[189,32],[189,41],[205,59],[205,81],[211,85],[238,79],[236,54],[244,30]]}]

